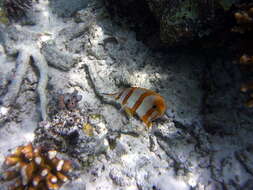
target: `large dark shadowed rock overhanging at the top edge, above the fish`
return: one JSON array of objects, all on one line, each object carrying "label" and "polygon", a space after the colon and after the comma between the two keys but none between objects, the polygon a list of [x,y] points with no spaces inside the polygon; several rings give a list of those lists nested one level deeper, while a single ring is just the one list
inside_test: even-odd
[{"label": "large dark shadowed rock overhanging at the top edge, above the fish", "polygon": [[156,34],[156,38],[169,46],[184,45],[224,30],[230,24],[230,9],[238,2],[240,0],[106,0],[113,16],[124,16],[134,23],[137,38],[142,36],[141,40],[149,43]]}]

